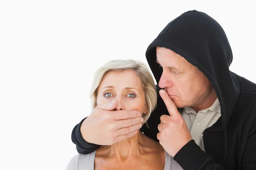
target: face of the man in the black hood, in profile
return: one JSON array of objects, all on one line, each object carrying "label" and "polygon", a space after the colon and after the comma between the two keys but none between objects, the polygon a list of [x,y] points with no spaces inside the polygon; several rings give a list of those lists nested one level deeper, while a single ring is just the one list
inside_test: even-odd
[{"label": "face of the man in the black hood, in profile", "polygon": [[204,74],[170,49],[157,47],[157,62],[163,67],[159,87],[177,108],[197,107],[207,102],[213,87]]}]

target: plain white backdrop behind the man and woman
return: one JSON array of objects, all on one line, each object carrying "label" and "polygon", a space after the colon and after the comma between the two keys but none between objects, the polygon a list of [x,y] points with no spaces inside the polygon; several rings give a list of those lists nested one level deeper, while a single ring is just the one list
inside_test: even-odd
[{"label": "plain white backdrop behind the man and woman", "polygon": [[111,59],[146,62],[150,42],[185,11],[217,20],[233,49],[231,71],[256,82],[253,4],[212,2],[2,0],[0,169],[65,169],[96,69]]}]

